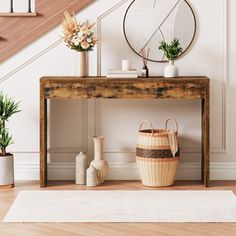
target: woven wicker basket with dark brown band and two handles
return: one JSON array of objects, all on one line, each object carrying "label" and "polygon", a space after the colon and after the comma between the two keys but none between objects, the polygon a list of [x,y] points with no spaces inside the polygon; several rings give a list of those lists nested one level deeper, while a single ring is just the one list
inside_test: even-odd
[{"label": "woven wicker basket with dark brown band and two handles", "polygon": [[[170,120],[176,130],[168,130]],[[151,129],[141,130],[144,123]],[[144,120],[139,128],[136,161],[142,184],[151,187],[171,186],[179,165],[178,124],[175,119],[166,121],[165,129],[153,129],[150,121]]]}]

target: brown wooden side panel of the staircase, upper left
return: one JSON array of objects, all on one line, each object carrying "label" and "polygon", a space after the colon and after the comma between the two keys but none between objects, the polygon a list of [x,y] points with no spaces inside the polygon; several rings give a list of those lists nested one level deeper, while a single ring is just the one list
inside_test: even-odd
[{"label": "brown wooden side panel of the staircase, upper left", "polygon": [[37,16],[0,16],[0,63],[62,22],[63,12],[76,13],[94,0],[36,0]]}]

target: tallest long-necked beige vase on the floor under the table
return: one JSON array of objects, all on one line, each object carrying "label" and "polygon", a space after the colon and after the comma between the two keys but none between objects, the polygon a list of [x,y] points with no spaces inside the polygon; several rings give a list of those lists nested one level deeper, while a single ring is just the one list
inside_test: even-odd
[{"label": "tallest long-necked beige vase on the floor under the table", "polygon": [[103,136],[93,137],[94,141],[94,160],[91,162],[98,172],[98,183],[101,184],[105,181],[108,174],[108,163],[103,160]]}]

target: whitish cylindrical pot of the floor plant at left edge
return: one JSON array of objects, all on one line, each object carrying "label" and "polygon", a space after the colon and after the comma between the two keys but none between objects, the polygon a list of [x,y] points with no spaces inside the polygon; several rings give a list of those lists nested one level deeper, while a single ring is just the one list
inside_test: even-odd
[{"label": "whitish cylindrical pot of the floor plant at left edge", "polygon": [[14,187],[14,157],[0,156],[0,187]]}]

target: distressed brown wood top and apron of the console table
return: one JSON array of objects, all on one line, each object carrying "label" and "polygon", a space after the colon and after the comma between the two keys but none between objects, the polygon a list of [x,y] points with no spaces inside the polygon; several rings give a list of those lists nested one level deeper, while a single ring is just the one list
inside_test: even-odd
[{"label": "distressed brown wood top and apron of the console table", "polygon": [[107,79],[44,77],[46,98],[184,98],[205,97],[206,77]]}]

